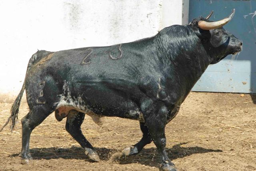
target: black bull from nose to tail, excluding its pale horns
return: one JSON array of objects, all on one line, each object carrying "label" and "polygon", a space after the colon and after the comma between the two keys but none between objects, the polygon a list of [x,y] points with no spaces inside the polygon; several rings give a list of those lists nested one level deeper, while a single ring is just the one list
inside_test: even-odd
[{"label": "black bull from nose to tail, excluding its pale horns", "polygon": [[55,111],[59,121],[67,117],[66,130],[95,161],[100,160],[98,154],[80,129],[84,115],[90,114],[95,121],[102,116],[136,119],[143,137],[124,149],[122,155],[137,154],[154,141],[162,168],[175,170],[165,150],[166,124],[176,116],[209,64],[242,50],[242,42],[221,26],[199,28],[201,20],[209,22],[199,17],[189,25],[170,26],[136,42],[36,52],[30,58],[22,90],[7,121],[12,121],[13,129],[26,89],[30,110],[21,120],[22,163],[32,159],[32,130]]}]

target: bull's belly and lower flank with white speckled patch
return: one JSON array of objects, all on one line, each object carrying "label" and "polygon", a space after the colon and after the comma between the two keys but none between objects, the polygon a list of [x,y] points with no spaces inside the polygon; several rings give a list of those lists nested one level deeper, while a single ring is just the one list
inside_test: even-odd
[{"label": "bull's belly and lower flank with white speckled patch", "polygon": [[76,110],[99,118],[114,116],[144,122],[138,105],[126,94],[116,93],[101,82],[91,84],[64,83],[63,93],[55,103],[57,120],[66,117],[70,110]]}]

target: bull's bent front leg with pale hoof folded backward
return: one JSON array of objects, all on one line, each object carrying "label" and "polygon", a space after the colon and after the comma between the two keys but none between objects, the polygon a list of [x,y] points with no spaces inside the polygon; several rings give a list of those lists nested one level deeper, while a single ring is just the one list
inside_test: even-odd
[{"label": "bull's bent front leg with pale hoof folded backward", "polygon": [[148,127],[146,127],[145,123],[140,122],[140,129],[143,133],[142,139],[136,143],[135,145],[132,145],[130,147],[126,147],[122,151],[122,156],[128,156],[128,155],[135,155],[140,153],[140,151],[143,149],[143,147],[149,143],[152,142],[152,139],[150,137]]}]

